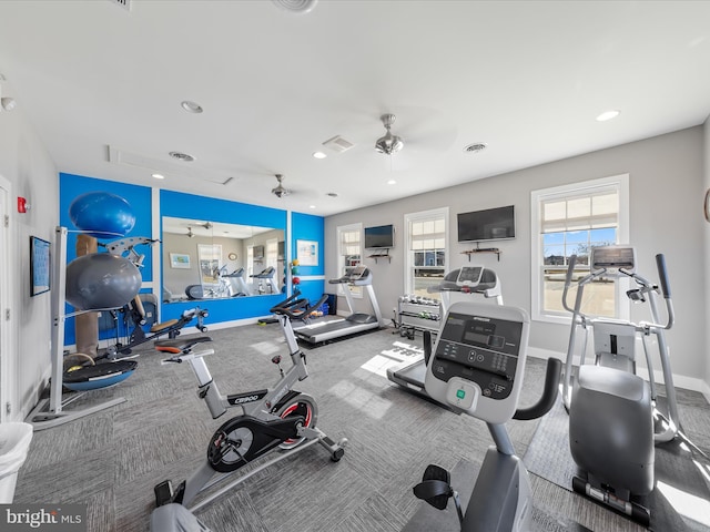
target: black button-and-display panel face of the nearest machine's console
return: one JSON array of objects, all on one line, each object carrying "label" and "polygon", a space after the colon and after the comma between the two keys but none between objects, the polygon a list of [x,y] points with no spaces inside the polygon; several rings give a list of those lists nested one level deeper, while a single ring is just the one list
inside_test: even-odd
[{"label": "black button-and-display panel face of the nearest machine's console", "polygon": [[504,399],[513,390],[521,335],[519,321],[449,313],[432,372],[445,382],[477,382],[486,397]]}]

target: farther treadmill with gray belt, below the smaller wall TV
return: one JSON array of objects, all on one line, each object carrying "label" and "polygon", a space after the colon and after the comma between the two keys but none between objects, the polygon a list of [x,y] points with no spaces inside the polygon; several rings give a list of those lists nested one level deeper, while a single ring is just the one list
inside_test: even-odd
[{"label": "farther treadmill with gray belt, below the smaller wall TV", "polygon": [[296,338],[305,340],[310,344],[321,344],[323,341],[341,338],[344,336],[355,335],[365,330],[379,329],[382,327],[382,314],[379,305],[373,289],[373,274],[366,266],[356,266],[337,279],[328,279],[331,285],[351,285],[364,286],[367,297],[373,306],[374,314],[355,313],[353,304],[353,295],[345,287],[343,293],[347,300],[347,307],[351,315],[342,319],[317,320],[302,327],[294,327]]}]

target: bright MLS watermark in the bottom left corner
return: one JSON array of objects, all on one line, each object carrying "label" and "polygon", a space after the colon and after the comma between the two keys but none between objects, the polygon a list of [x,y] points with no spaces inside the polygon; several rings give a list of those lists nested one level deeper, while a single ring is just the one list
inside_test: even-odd
[{"label": "bright MLS watermark in the bottom left corner", "polygon": [[87,504],[0,504],[3,532],[87,532]]}]

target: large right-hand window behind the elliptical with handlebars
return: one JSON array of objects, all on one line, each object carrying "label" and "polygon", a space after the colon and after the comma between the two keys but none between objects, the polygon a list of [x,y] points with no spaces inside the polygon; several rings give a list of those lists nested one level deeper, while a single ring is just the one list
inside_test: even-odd
[{"label": "large right-hand window behind the elliptical with handlebars", "polygon": [[[578,280],[589,273],[591,247],[628,242],[628,175],[620,175],[531,193],[534,319],[569,321],[562,289],[571,255],[577,255],[572,280]],[[628,319],[628,304],[620,297],[623,286],[608,278],[587,285],[582,311]],[[572,283],[570,306],[575,296]]]}]

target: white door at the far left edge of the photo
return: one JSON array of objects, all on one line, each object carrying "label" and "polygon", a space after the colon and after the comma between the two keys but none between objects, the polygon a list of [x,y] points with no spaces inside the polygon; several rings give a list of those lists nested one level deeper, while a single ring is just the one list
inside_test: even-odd
[{"label": "white door at the far left edge of the photo", "polygon": [[[0,175],[0,422],[8,421],[8,406],[14,398],[14,359],[10,338],[10,182]],[[17,405],[13,406],[17,408]]]}]

